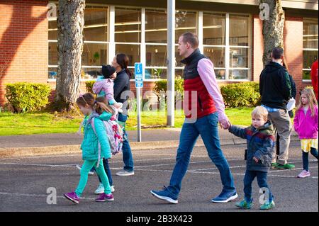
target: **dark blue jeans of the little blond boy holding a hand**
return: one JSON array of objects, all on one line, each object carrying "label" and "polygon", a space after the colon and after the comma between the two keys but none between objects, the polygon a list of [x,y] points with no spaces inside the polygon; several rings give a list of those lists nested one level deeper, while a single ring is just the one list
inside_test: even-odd
[{"label": "dark blue jeans of the little blond boy holding a hand", "polygon": [[252,201],[252,181],[257,176],[257,183],[259,188],[268,188],[267,191],[269,192],[269,203],[272,202],[273,196],[272,191],[270,191],[269,186],[267,185],[267,172],[263,171],[249,171],[246,170],[245,177],[244,177],[244,193],[245,193],[245,200],[247,202]]}]

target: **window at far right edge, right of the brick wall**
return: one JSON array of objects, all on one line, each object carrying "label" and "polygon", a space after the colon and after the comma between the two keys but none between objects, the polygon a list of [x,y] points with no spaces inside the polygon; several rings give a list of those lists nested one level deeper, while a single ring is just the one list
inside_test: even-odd
[{"label": "window at far right edge, right of the brick wall", "polygon": [[311,65],[318,59],[318,20],[303,19],[303,79],[309,80]]}]

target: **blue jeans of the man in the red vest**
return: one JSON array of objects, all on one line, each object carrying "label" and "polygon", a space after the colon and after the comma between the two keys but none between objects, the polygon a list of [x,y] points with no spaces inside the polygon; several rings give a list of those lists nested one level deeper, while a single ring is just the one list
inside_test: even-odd
[{"label": "blue jeans of the man in the red vest", "polygon": [[181,180],[186,174],[191,152],[199,135],[201,135],[201,138],[203,139],[208,156],[218,168],[223,183],[223,191],[236,191],[233,175],[231,174],[228,162],[220,149],[218,114],[212,113],[203,118],[198,118],[195,123],[187,123],[187,119],[184,121],[179,137],[177,162],[172,173],[171,181],[169,182],[169,187],[167,188],[174,198],[177,198],[179,191],[181,191]]}]

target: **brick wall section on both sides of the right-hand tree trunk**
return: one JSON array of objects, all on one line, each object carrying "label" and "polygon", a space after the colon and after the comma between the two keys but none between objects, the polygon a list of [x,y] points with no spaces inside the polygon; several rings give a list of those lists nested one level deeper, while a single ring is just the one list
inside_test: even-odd
[{"label": "brick wall section on both sides of the right-hand tree trunk", "polygon": [[[262,54],[264,43],[262,38],[262,21],[259,15],[253,17],[253,57],[252,77],[253,81],[259,81],[262,72]],[[303,76],[303,18],[286,17],[284,26],[284,50],[286,55],[289,73],[296,82],[297,93],[303,87],[310,85],[302,81]],[[298,94],[297,97],[298,99]]]}]

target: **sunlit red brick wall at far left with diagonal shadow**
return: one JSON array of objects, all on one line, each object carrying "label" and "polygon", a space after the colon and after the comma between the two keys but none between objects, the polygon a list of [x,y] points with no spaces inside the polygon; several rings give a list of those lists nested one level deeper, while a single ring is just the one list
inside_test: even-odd
[{"label": "sunlit red brick wall at far left with diagonal shadow", "polygon": [[0,105],[5,84],[47,82],[47,1],[0,1]]}]

